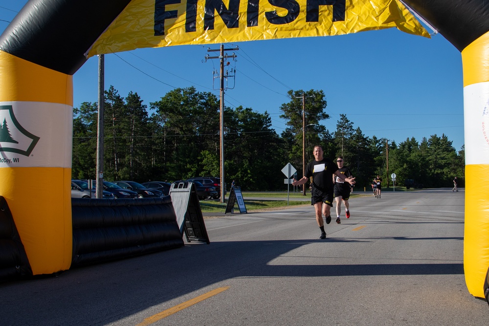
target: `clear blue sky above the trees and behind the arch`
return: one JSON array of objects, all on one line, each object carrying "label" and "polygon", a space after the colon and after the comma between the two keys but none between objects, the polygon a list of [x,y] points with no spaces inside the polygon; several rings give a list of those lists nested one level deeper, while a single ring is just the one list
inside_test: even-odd
[{"label": "clear blue sky above the trees and behind the arch", "polygon": [[[2,0],[0,32],[26,0]],[[430,29],[428,29],[431,32]],[[136,92],[150,107],[176,87],[195,86],[219,96],[217,56],[220,44],[180,45],[136,49],[105,56],[105,88],[114,86],[121,96]],[[415,137],[445,134],[459,151],[464,145],[463,76],[460,52],[438,34],[432,39],[397,29],[356,34],[226,43],[234,51],[236,78],[229,81],[224,99],[229,107],[267,111],[281,133],[285,121],[280,106],[289,102],[289,89],[321,89],[326,95],[322,121],[336,130],[346,114],[369,137],[397,143]],[[230,51],[231,54],[233,51]],[[231,61],[232,62],[232,61]],[[98,100],[98,58],[90,58],[73,75],[74,106]],[[216,90],[214,90],[215,88]]]}]

